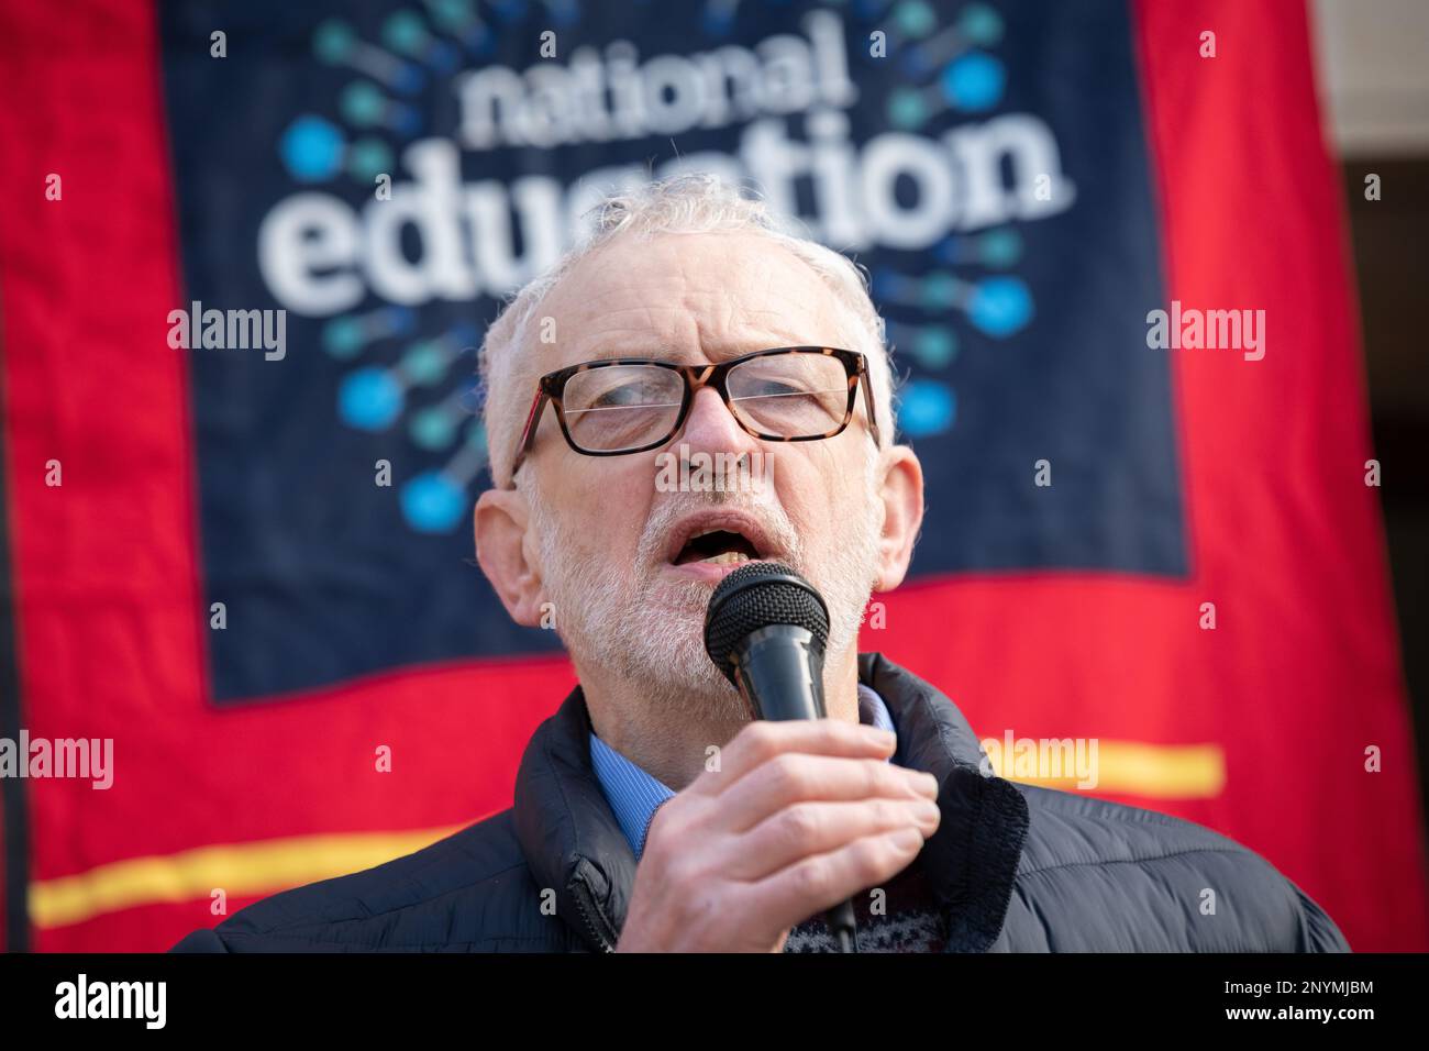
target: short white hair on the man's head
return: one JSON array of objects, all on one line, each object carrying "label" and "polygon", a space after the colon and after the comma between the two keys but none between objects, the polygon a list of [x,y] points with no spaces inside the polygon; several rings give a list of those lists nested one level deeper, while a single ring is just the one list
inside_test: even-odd
[{"label": "short white hair on the man's head", "polygon": [[863,267],[846,256],[807,237],[793,233],[762,200],[740,194],[739,189],[707,173],[680,174],[646,183],[632,192],[606,197],[596,206],[590,233],[562,256],[549,270],[532,279],[506,305],[486,330],[479,369],[492,479],[506,486],[516,459],[519,429],[529,403],[524,385],[514,386],[530,369],[523,369],[527,327],[536,309],[550,290],[584,256],[609,245],[614,237],[632,235],[650,237],[662,233],[753,233],[782,245],[807,263],[837,296],[852,322],[852,335],[860,336],[873,380],[875,412],[880,442],[893,440],[893,370],[883,333],[883,320],[869,297]]}]

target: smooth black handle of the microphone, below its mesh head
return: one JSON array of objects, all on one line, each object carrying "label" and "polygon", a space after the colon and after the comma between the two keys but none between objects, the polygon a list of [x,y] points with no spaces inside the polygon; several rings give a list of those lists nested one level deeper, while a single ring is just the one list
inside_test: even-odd
[{"label": "smooth black handle of the microphone, below its mesh head", "polygon": [[[750,633],[736,651],[739,691],[760,719],[823,719],[823,652],[813,633],[776,623]],[[840,952],[857,952],[853,899],[825,914]]]}]

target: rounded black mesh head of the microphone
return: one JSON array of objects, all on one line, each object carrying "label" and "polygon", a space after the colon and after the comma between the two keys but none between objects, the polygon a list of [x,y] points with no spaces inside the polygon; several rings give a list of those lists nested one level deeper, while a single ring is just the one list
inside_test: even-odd
[{"label": "rounded black mesh head of the microphone", "polygon": [[807,629],[820,652],[829,642],[829,608],[815,586],[782,562],[750,562],[720,581],[710,596],[704,651],[736,682],[730,661],[735,649],[753,632],[775,623]]}]

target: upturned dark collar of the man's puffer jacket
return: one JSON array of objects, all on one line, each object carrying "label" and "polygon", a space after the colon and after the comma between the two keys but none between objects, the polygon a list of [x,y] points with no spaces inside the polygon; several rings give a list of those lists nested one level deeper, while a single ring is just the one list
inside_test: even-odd
[{"label": "upturned dark collar of the man's puffer jacket", "polygon": [[[937,778],[942,822],[919,855],[949,919],[949,951],[982,952],[1002,931],[1027,834],[1027,802],[982,774],[983,754],[943,694],[880,653],[859,655],[859,681],[897,728],[895,756]],[[624,925],[636,858],[590,765],[590,715],[577,685],[532,736],[516,774],[516,835],[536,885],[597,951]]]}]

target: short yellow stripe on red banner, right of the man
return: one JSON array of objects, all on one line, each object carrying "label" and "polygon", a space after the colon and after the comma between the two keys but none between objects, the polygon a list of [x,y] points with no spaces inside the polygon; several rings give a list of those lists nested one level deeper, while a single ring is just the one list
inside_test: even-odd
[{"label": "short yellow stripe on red banner, right of the man", "polygon": [[[1210,799],[1226,786],[1226,754],[1220,745],[1147,745],[1140,741],[1097,739],[1095,754],[1089,744],[1082,751],[1089,761],[1083,771],[1093,776],[1079,776],[1067,772],[1066,759],[1075,755],[1073,749],[1059,749],[1055,744],[1040,748],[1042,742],[1035,738],[1026,744],[1017,738],[1007,755],[1006,741],[992,738],[982,744],[997,776],[1065,792]],[[1095,762],[1090,762],[1093,755]]]}]

